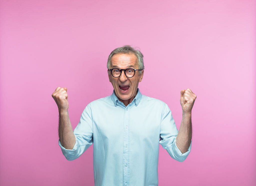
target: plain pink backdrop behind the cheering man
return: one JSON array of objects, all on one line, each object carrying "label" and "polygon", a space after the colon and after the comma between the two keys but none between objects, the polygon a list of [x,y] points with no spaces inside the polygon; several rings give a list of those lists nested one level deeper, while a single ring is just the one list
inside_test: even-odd
[{"label": "plain pink backdrop behind the cheering man", "polygon": [[255,4],[1,1],[0,185],[93,185],[93,145],[66,160],[51,94],[68,88],[74,129],[111,95],[107,58],[125,44],[145,56],[142,94],[178,129],[180,90],[197,95],[191,153],[181,163],[160,146],[159,185],[255,185]]}]

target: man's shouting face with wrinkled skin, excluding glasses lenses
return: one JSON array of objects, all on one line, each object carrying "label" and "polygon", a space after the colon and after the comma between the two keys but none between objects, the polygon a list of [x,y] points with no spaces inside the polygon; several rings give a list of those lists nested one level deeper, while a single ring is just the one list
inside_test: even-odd
[{"label": "man's shouting face with wrinkled skin, excluding glasses lenses", "polygon": [[[137,57],[135,54],[114,54],[111,58],[111,68],[119,68],[119,69],[139,69],[137,63]],[[113,88],[115,90],[116,96],[121,100],[130,100],[135,96],[138,88],[139,82],[141,82],[144,70],[141,70],[141,75],[139,75],[139,70],[135,71],[135,75],[132,78],[127,78],[124,74],[124,70],[120,77],[115,78],[111,75],[111,71],[108,71],[109,81],[112,83]],[[127,92],[122,92],[119,86],[129,85],[129,89]]]}]

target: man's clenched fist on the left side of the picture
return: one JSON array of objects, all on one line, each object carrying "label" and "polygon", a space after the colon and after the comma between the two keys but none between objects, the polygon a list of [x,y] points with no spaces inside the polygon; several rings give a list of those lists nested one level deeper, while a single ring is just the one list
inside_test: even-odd
[{"label": "man's clenched fist on the left side of the picture", "polygon": [[60,88],[57,87],[57,89],[52,93],[52,97],[54,98],[59,111],[66,111],[68,110],[68,89],[66,87]]}]

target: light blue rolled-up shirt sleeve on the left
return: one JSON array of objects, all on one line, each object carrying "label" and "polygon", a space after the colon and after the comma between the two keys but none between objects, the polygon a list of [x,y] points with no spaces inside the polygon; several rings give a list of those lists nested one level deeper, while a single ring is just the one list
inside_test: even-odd
[{"label": "light blue rolled-up shirt sleeve on the left", "polygon": [[80,121],[74,129],[76,142],[72,149],[66,149],[58,140],[62,154],[71,161],[81,156],[93,143],[92,113],[90,104],[86,106],[81,114]]}]

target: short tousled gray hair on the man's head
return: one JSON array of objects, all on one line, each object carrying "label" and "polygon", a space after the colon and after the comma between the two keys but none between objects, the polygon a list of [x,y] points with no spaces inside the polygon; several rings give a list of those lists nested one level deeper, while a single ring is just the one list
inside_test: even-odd
[{"label": "short tousled gray hair on the man's head", "polygon": [[[131,47],[130,45],[124,45],[122,47],[118,47],[116,49],[114,49],[108,58],[108,63],[107,63],[107,68],[110,69],[111,68],[111,58],[114,54],[127,54],[127,53],[132,53],[135,54],[135,56],[137,57],[137,63],[139,66],[139,69],[144,69],[144,61],[143,61],[143,54],[141,53],[141,51]],[[141,70],[139,70],[139,75],[141,75]]]}]

